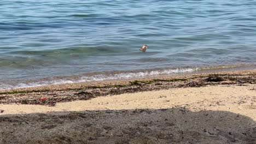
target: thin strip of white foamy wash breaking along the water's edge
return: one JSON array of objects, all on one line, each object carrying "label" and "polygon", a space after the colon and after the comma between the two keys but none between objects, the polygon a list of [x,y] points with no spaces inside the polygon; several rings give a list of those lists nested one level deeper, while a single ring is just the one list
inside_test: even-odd
[{"label": "thin strip of white foamy wash breaking along the water's edge", "polygon": [[51,85],[74,85],[75,83],[97,83],[106,81],[154,79],[157,77],[176,77],[255,69],[255,64],[247,64],[219,65],[213,67],[155,68],[131,71],[102,71],[80,75],[53,76],[44,78],[34,77],[34,79],[27,78],[24,80],[2,80],[2,83],[0,83],[0,91],[8,89],[11,90],[20,88],[47,87]]}]

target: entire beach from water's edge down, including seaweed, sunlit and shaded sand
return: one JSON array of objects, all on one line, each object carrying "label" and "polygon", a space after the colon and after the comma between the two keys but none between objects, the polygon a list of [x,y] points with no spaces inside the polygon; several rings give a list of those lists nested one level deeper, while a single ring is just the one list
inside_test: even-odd
[{"label": "entire beach from water's edge down, including seaweed, sunlit and shaded sand", "polygon": [[256,143],[256,70],[0,92],[0,143]]}]

